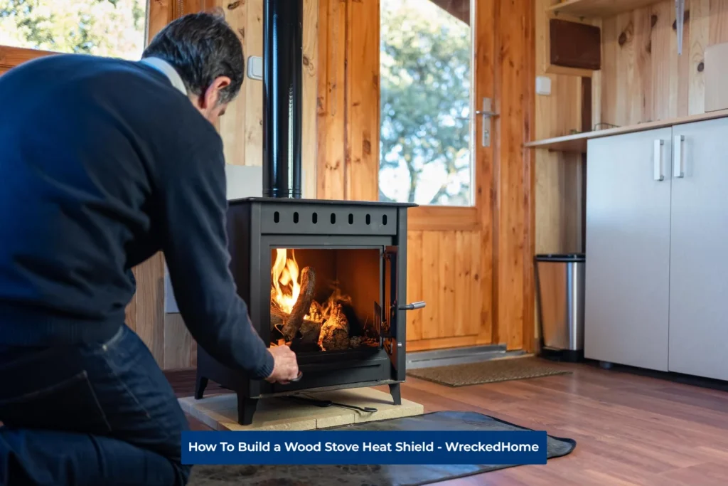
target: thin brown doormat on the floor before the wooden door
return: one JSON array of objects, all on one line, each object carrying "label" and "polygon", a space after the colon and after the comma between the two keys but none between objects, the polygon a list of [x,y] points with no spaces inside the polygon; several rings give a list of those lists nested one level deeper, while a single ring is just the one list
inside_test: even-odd
[{"label": "thin brown doormat on the floor before the wooden door", "polygon": [[440,385],[456,387],[569,373],[571,373],[569,370],[554,366],[550,364],[550,361],[529,357],[492,359],[479,363],[454,364],[448,367],[410,369],[407,375]]}]

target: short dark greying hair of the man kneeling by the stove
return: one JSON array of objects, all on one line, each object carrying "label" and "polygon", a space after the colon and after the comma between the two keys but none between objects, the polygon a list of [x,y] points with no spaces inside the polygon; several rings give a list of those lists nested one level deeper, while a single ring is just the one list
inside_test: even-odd
[{"label": "short dark greying hair of the man kneeling by the stove", "polygon": [[230,78],[218,103],[237,96],[245,76],[242,44],[223,15],[200,12],[184,15],[162,28],[142,58],[160,58],[179,73],[187,90],[200,95],[216,77]]}]

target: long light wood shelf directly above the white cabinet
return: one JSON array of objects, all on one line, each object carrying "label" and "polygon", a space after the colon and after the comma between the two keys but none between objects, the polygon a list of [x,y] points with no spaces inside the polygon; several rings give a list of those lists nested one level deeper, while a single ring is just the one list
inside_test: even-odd
[{"label": "long light wood shelf directly above the white cabinet", "polygon": [[575,133],[574,135],[566,135],[555,138],[545,138],[543,140],[535,140],[523,144],[529,149],[547,149],[554,152],[587,152],[587,141],[590,138],[602,138],[612,135],[621,135],[622,133],[641,132],[644,130],[652,130],[653,128],[664,128],[672,125],[681,125],[684,123],[702,122],[706,119],[728,117],[728,109],[711,111],[709,113],[693,114],[687,117],[662,119],[657,122],[640,123],[639,125],[630,125],[627,127],[609,128],[607,130],[598,130],[595,132]]}]

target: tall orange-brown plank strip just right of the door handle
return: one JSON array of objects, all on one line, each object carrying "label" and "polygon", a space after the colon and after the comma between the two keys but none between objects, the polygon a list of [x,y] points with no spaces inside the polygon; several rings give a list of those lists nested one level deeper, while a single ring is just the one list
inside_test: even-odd
[{"label": "tall orange-brown plank strip just right of the door handle", "polygon": [[534,328],[534,0],[495,2],[494,343],[533,348]]}]

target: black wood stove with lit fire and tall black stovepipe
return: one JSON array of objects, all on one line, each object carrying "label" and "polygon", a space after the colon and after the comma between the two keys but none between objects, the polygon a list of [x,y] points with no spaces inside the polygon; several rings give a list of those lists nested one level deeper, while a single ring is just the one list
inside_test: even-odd
[{"label": "black wood stove with lit fire and tall black stovepipe", "polygon": [[[287,385],[251,380],[199,348],[195,398],[208,380],[234,391],[242,425],[252,423],[259,399],[301,391],[387,384],[400,404],[405,312],[424,307],[405,303],[414,205],[300,198],[301,0],[264,6],[265,197],[229,202],[230,268],[253,327],[270,345],[290,345],[302,376]],[[299,283],[305,269],[315,275],[307,291]],[[303,294],[311,298],[304,324],[286,334]],[[326,340],[332,323],[336,340]]]}]

